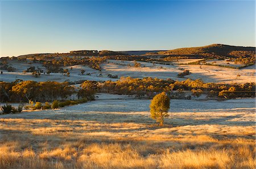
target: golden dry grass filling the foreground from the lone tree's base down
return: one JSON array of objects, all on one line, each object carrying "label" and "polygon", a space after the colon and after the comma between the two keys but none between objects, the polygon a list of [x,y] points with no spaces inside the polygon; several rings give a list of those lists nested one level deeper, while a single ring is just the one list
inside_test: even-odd
[{"label": "golden dry grass filling the foreground from the lone tree's base down", "polygon": [[0,131],[0,168],[256,166],[254,126],[0,119]]}]

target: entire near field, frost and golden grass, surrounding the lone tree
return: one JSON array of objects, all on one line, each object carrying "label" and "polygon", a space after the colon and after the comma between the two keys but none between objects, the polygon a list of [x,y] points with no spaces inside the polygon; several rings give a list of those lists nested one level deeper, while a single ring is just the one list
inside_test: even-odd
[{"label": "entire near field, frost and golden grass, surrounding the lone tree", "polygon": [[255,100],[171,100],[159,128],[150,100],[96,101],[0,117],[0,168],[255,168]]}]

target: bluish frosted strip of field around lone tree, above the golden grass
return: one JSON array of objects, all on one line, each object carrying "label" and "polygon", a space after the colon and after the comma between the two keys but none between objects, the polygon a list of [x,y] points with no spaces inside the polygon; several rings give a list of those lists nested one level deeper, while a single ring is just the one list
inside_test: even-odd
[{"label": "bluish frosted strip of field around lone tree, above the golden grass", "polygon": [[[96,101],[60,109],[1,115],[3,119],[89,120],[98,122],[135,122],[154,125],[150,119],[150,100],[122,95],[98,94]],[[171,100],[167,125],[254,126],[255,99]]]}]

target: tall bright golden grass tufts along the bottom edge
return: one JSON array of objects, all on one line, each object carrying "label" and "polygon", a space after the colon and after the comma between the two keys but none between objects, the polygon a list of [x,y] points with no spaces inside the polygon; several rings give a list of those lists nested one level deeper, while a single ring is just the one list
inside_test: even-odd
[{"label": "tall bright golden grass tufts along the bottom edge", "polygon": [[[147,143],[60,145],[54,149],[0,147],[0,168],[255,168],[255,149],[246,143],[232,146],[170,150]],[[154,152],[155,151],[155,152]],[[154,153],[153,153],[154,152]]]}]

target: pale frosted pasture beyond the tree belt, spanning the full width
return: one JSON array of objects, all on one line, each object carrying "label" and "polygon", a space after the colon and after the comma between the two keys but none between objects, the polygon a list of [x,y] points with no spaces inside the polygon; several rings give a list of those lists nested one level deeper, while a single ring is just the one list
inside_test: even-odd
[{"label": "pale frosted pasture beyond the tree belt, spanning the full width", "polygon": [[[152,77],[183,81],[187,78],[203,79],[204,82],[218,82],[218,83],[246,83],[255,82],[255,66],[245,67],[243,69],[231,69],[219,66],[207,66],[207,65],[160,65],[149,62],[139,62],[142,67],[133,67],[133,61],[117,61],[108,60],[105,64],[102,64],[102,71],[91,69],[88,66],[67,66],[63,69],[69,69],[70,77],[62,73],[51,73],[49,75],[42,74],[39,78],[32,77],[31,73],[22,73],[28,67],[35,66],[45,70],[42,64],[26,64],[18,61],[10,61],[11,66],[15,67],[15,72],[3,71],[0,76],[1,81],[13,82],[16,79],[22,79],[24,81],[80,81],[80,80],[92,80],[92,81],[116,81],[117,79],[109,78],[108,74],[118,75],[118,77]],[[129,66],[131,65],[131,66]],[[71,67],[73,68],[71,70]],[[81,75],[81,70],[84,69],[84,75]],[[177,78],[177,74],[183,72],[184,69],[188,69],[191,74],[185,76],[185,78]],[[86,75],[90,73],[90,75]]]}]

